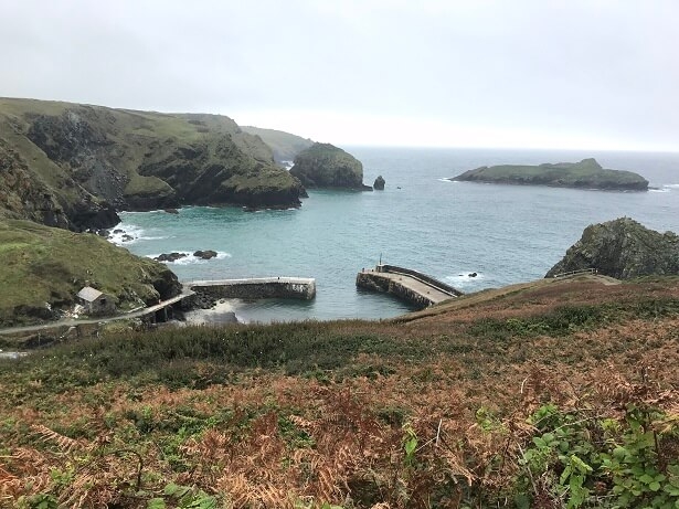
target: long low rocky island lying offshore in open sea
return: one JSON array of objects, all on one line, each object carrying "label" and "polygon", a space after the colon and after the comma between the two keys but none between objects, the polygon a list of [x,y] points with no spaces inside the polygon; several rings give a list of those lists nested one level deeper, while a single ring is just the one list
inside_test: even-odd
[{"label": "long low rocky island lying offshore in open sea", "polygon": [[545,162],[539,166],[500,165],[465,171],[448,180],[465,182],[550,185],[606,191],[647,191],[648,181],[632,171],[607,170],[595,159],[580,162]]}]

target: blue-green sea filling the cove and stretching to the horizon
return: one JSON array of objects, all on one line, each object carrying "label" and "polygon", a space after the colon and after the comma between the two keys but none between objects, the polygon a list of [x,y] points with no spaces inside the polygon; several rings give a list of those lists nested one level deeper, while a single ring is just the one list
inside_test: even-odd
[{"label": "blue-green sea filling the cove and stretching to the horizon", "polygon": [[[113,242],[142,256],[182,252],[168,266],[180,280],[296,276],[316,278],[314,300],[222,303],[243,322],[384,319],[412,310],[356,287],[362,268],[389,263],[426,273],[464,293],[544,277],[593,223],[632,218],[679,232],[679,152],[342,147],[363,163],[364,182],[384,191],[309,190],[299,209],[246,212],[187,206],[124,212]],[[594,157],[630,170],[648,192],[613,192],[447,180],[480,166],[539,165]],[[204,261],[192,255],[213,250]],[[475,277],[473,275],[476,274]],[[222,316],[223,314],[223,316]]]}]

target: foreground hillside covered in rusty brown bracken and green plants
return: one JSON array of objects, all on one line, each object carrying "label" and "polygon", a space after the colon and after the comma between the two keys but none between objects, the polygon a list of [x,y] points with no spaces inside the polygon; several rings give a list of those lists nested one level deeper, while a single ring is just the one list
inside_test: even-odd
[{"label": "foreground hillside covered in rusty brown bracken and green plants", "polygon": [[608,283],[0,361],[0,503],[676,508],[679,285]]}]

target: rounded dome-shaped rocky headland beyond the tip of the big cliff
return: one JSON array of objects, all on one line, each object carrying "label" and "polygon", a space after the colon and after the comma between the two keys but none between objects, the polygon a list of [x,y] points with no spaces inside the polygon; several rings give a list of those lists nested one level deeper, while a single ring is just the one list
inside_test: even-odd
[{"label": "rounded dome-shaped rocky headland beyond the tip of the big cliff", "polygon": [[299,152],[290,174],[308,188],[372,190],[363,185],[361,161],[330,144],[314,144]]}]

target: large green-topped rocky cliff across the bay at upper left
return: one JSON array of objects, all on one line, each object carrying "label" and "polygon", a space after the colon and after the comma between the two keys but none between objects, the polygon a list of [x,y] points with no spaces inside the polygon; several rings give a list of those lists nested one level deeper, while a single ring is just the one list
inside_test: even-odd
[{"label": "large green-topped rocky cliff across the bay at upper left", "polygon": [[296,206],[304,191],[219,115],[0,98],[0,215],[72,230],[113,226],[115,210]]}]

